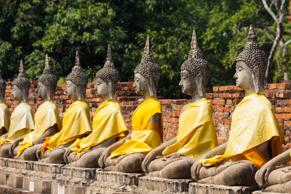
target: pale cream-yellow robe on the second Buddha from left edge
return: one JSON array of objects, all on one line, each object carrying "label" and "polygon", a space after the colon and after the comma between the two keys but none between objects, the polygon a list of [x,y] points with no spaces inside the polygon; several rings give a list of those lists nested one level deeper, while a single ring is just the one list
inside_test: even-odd
[{"label": "pale cream-yellow robe on the second Buddha from left edge", "polygon": [[18,137],[26,135],[34,129],[32,107],[27,102],[20,102],[10,118],[10,127],[5,144],[11,144]]}]

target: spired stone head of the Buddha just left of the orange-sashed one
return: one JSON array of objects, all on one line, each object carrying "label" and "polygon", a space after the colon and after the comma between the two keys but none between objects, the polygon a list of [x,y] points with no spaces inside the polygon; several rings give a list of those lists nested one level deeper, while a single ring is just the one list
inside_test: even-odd
[{"label": "spired stone head of the Buddha just left of the orange-sashed one", "polygon": [[96,73],[96,86],[94,89],[97,91],[97,96],[103,100],[113,99],[118,81],[119,73],[112,62],[111,46],[109,44],[107,61],[104,67]]}]

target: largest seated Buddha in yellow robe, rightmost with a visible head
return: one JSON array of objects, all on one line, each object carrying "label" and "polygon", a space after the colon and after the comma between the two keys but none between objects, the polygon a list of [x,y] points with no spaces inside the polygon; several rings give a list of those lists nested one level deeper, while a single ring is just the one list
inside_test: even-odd
[{"label": "largest seated Buddha in yellow robe, rightmost with a visible head", "polygon": [[250,26],[247,43],[237,57],[234,79],[245,97],[231,119],[228,142],[200,157],[192,166],[198,183],[240,186],[256,185],[256,172],[282,153],[283,133],[271,102],[263,93],[267,55],[259,49]]}]

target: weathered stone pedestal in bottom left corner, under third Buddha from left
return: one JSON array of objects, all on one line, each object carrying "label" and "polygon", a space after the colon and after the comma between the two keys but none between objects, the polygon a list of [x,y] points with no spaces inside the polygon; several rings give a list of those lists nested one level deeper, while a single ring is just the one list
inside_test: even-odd
[{"label": "weathered stone pedestal in bottom left corner, under third Buddha from left", "polygon": [[[2,162],[4,162],[4,160],[2,160]],[[8,167],[3,167],[1,169],[1,181],[4,181],[6,178],[6,185],[12,188],[22,188],[23,178],[32,170],[33,162],[8,159],[7,165]]]}]

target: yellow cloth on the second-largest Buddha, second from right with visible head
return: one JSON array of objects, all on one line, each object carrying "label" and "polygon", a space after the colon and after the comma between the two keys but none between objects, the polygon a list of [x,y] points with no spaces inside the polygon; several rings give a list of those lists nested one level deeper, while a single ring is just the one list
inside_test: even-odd
[{"label": "yellow cloth on the second-largest Buddha, second from right with visible head", "polygon": [[198,159],[217,147],[212,113],[212,104],[206,98],[191,103],[180,115],[177,142],[167,146],[162,155],[178,152],[183,156]]}]

